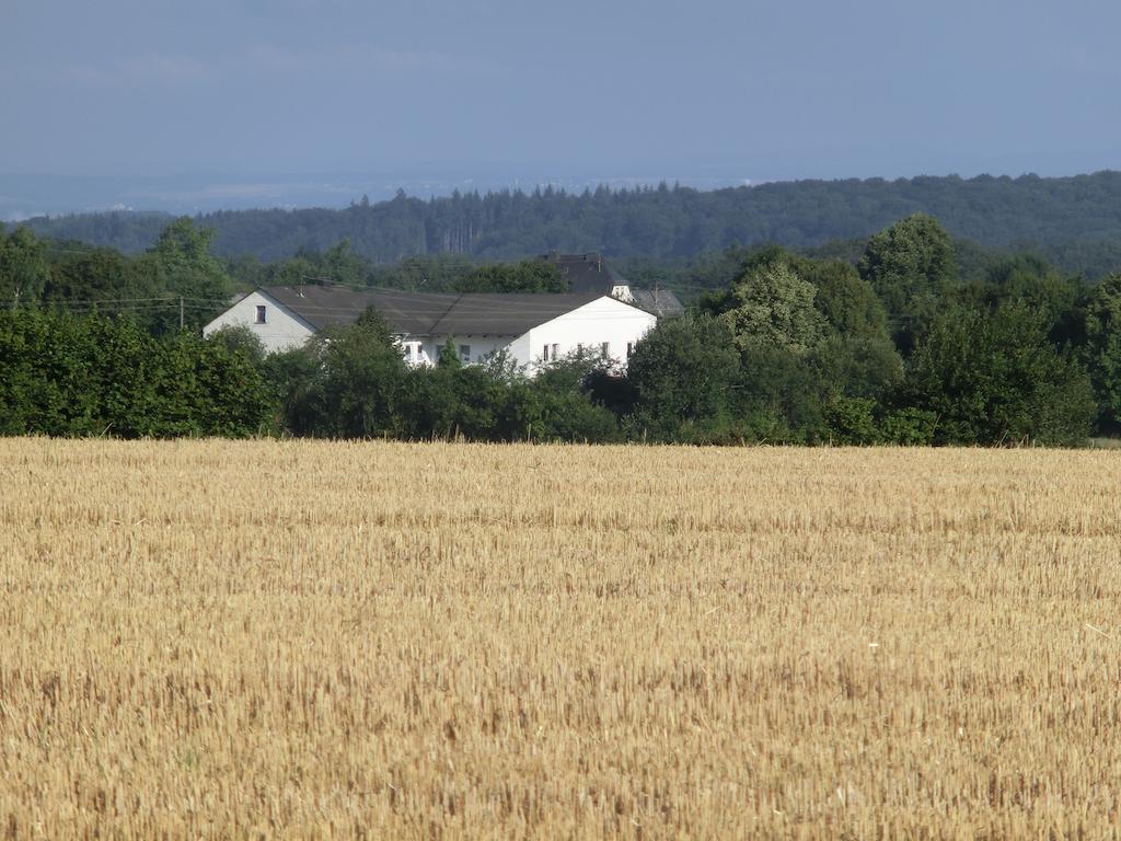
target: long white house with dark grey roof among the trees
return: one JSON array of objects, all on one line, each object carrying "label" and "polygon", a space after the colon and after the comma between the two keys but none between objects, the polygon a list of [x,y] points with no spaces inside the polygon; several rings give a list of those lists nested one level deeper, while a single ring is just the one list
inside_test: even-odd
[{"label": "long white house with dark grey roof among the trees", "polygon": [[602,292],[583,294],[419,294],[342,286],[254,289],[203,329],[249,327],[269,352],[298,348],[321,330],[354,323],[369,307],[389,324],[406,361],[433,364],[451,339],[465,362],[506,350],[532,372],[581,348],[627,364],[658,321]]}]

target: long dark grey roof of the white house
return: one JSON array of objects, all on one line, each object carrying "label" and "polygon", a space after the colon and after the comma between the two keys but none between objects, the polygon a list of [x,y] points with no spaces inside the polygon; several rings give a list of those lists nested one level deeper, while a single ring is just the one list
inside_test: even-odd
[{"label": "long dark grey roof of the white house", "polygon": [[353,324],[369,307],[395,333],[409,335],[521,335],[603,297],[584,294],[411,293],[344,286],[268,286],[261,292],[317,330]]}]

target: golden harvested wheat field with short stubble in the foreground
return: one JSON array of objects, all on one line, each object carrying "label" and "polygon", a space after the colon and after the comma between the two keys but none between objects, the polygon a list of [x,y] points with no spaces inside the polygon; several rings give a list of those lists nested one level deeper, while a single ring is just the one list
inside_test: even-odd
[{"label": "golden harvested wheat field with short stubble in the foreground", "polygon": [[0,473],[2,837],[1118,834],[1119,454],[8,440]]}]

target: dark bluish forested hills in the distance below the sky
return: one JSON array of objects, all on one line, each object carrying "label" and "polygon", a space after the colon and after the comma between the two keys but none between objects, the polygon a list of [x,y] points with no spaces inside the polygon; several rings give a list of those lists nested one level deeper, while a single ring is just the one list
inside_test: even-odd
[{"label": "dark bluish forested hills in the distance below the sky", "polygon": [[[597,250],[679,266],[739,244],[803,250],[867,240],[896,220],[926,213],[956,240],[984,251],[1030,248],[1068,274],[1097,279],[1121,266],[1121,173],[1066,178],[918,177],[803,181],[698,192],[661,185],[569,194],[550,187],[456,193],[428,201],[404,193],[342,210],[253,210],[195,219],[213,228],[214,252],[274,261],[348,240],[373,264],[410,256],[511,259],[550,250]],[[123,252],[156,242],[172,221],[159,213],[101,213],[29,220],[43,237]],[[861,246],[854,247],[859,250]]]}]

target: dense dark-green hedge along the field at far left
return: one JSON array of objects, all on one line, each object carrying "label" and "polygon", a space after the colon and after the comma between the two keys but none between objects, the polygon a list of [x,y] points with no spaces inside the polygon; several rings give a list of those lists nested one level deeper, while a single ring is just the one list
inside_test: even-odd
[{"label": "dense dark-green hedge along the field at far left", "polygon": [[271,396],[243,353],[128,318],[0,312],[0,433],[257,434]]}]

